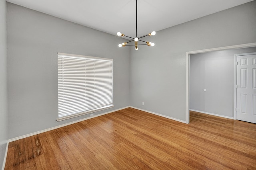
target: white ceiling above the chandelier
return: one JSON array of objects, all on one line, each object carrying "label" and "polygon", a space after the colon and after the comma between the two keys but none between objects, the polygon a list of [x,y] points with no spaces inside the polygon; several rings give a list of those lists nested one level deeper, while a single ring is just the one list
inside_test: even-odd
[{"label": "white ceiling above the chandelier", "polygon": [[[138,37],[252,0],[138,0]],[[136,0],[7,0],[106,33],[135,37]]]}]

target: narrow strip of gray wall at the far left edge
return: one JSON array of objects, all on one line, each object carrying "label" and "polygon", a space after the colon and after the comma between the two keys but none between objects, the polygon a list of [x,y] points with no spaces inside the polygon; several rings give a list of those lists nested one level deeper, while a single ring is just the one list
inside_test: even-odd
[{"label": "narrow strip of gray wall at the far left edge", "polygon": [[0,0],[0,169],[8,139],[6,0]]}]

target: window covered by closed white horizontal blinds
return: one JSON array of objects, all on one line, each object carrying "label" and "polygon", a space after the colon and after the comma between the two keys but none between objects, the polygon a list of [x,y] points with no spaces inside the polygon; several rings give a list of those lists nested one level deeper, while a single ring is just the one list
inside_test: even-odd
[{"label": "window covered by closed white horizontal blinds", "polygon": [[58,53],[58,119],[114,107],[112,59]]}]

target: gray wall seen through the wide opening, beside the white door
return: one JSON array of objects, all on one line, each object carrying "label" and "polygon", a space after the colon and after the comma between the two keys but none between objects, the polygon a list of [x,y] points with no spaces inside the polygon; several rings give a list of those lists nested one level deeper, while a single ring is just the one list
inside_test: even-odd
[{"label": "gray wall seen through the wide opening, beside the white door", "polygon": [[256,47],[190,55],[190,109],[233,117],[234,55],[252,52]]}]

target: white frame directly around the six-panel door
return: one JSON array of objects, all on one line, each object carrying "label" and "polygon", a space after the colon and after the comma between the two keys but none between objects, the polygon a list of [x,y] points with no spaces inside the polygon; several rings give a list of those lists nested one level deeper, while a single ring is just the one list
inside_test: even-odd
[{"label": "white frame directly around the six-panel door", "polygon": [[234,55],[234,57],[235,57],[235,59],[234,59],[234,109],[233,109],[233,111],[234,111],[234,120],[236,120],[236,100],[237,100],[237,83],[236,83],[236,81],[237,81],[237,57],[238,56],[242,56],[242,55],[255,55],[256,53],[254,52],[254,53],[242,53],[242,54],[235,54]]}]

